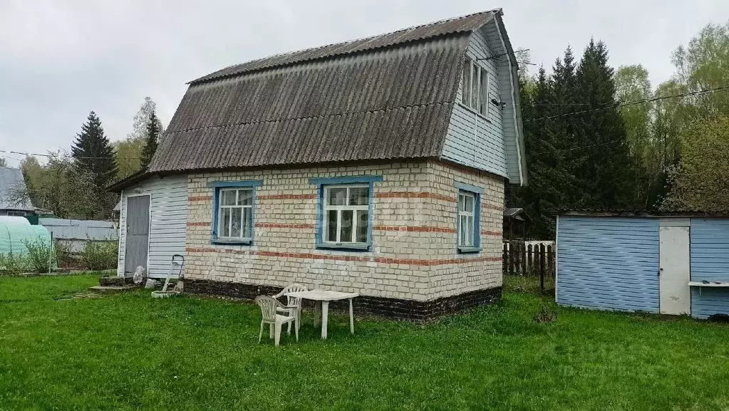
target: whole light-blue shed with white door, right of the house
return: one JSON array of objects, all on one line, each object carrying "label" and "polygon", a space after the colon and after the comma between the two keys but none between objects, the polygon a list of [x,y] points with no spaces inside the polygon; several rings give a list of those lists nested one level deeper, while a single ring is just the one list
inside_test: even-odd
[{"label": "whole light-blue shed with white door, right of the house", "polygon": [[564,211],[556,246],[560,305],[729,314],[729,216]]}]

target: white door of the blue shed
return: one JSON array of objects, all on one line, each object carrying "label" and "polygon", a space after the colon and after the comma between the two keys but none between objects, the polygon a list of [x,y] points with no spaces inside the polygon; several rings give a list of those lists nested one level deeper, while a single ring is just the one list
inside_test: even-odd
[{"label": "white door of the blue shed", "polygon": [[691,312],[690,220],[660,222],[660,313]]}]

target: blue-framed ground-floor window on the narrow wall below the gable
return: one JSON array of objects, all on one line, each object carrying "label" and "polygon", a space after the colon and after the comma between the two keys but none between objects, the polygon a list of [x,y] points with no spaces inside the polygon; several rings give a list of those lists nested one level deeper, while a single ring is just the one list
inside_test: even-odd
[{"label": "blue-framed ground-floor window on the narrow wall below the gable", "polygon": [[483,189],[456,183],[459,189],[456,208],[456,247],[460,253],[481,251],[480,203]]}]

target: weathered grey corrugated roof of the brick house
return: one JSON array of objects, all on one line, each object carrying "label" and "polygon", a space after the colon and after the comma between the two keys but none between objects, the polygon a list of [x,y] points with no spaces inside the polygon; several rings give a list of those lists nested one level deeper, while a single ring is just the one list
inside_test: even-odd
[{"label": "weathered grey corrugated roof of the brick house", "polygon": [[182,98],[149,173],[438,157],[470,31],[494,13],[201,77]]}]

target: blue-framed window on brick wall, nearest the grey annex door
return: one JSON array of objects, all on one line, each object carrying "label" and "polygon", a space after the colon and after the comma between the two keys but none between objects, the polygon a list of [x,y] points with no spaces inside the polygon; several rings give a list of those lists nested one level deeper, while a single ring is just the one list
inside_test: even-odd
[{"label": "blue-framed window on brick wall, nearest the grey annex door", "polygon": [[256,205],[256,187],[260,180],[213,181],[213,219],[211,243],[253,243],[253,219]]}]

